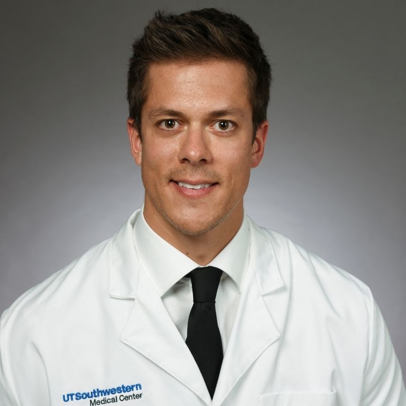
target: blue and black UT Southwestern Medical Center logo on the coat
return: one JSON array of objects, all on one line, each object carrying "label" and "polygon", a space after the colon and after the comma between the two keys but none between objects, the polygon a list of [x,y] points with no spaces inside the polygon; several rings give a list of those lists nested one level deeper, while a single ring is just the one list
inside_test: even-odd
[{"label": "blue and black UT Southwestern Medical Center logo on the coat", "polygon": [[[118,401],[140,399],[142,393],[134,393],[139,390],[142,390],[141,384],[121,385],[107,389],[97,388],[89,392],[66,393],[62,395],[62,399],[64,402],[70,402],[72,400],[92,399],[90,400],[90,405],[93,406],[98,404],[116,403]],[[126,393],[126,395],[124,395],[124,393]],[[117,396],[117,394],[119,394],[119,396]],[[116,396],[106,397],[110,395]],[[103,399],[96,399],[98,397],[103,397]]]}]

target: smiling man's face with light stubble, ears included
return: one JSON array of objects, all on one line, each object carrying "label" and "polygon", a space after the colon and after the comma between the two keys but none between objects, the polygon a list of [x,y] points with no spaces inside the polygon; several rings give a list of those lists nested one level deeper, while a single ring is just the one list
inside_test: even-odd
[{"label": "smiling man's face with light stubble, ears included", "polygon": [[[128,133],[145,186],[144,215],[160,235],[241,225],[250,170],[259,164],[267,122],[256,132],[248,76],[239,62],[152,64],[141,138]],[[162,232],[160,232],[162,231]]]}]

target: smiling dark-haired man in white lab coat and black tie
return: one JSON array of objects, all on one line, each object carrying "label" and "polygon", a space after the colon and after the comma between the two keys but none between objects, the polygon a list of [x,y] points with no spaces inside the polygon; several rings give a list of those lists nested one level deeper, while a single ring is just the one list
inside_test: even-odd
[{"label": "smiling dark-haired man in white lab coat and black tie", "polygon": [[406,404],[369,289],[244,214],[269,82],[238,17],[150,21],[128,71],[144,207],[3,314],[2,406]]}]

